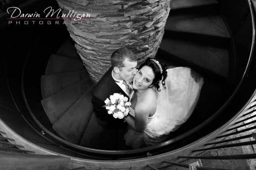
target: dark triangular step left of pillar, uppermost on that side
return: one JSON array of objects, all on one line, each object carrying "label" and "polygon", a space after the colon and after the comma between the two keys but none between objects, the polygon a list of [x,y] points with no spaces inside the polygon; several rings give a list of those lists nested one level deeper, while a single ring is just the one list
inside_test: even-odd
[{"label": "dark triangular step left of pillar, uppermost on that side", "polygon": [[67,40],[61,45],[56,54],[79,59],[79,55],[76,52],[75,44],[70,37],[67,38]]}]

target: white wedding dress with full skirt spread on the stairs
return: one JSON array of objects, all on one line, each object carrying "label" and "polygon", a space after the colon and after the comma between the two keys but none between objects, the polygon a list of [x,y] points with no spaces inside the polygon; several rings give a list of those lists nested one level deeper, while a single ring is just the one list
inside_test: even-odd
[{"label": "white wedding dress with full skirt spread on the stairs", "polygon": [[[160,83],[156,113],[148,117],[148,125],[139,133],[128,126],[125,144],[137,149],[163,142],[170,132],[177,130],[191,116],[198,102],[204,79],[186,67],[167,69],[166,89]],[[134,109],[130,115],[135,117]]]}]

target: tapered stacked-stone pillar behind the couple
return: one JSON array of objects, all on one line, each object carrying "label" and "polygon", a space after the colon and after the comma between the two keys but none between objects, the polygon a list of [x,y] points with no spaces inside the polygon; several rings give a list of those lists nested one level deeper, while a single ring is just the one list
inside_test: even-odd
[{"label": "tapered stacked-stone pillar behind the couple", "polygon": [[128,48],[138,64],[154,58],[164,33],[170,0],[57,0],[63,14],[90,14],[65,19],[70,36],[94,82],[111,67],[110,56]]}]

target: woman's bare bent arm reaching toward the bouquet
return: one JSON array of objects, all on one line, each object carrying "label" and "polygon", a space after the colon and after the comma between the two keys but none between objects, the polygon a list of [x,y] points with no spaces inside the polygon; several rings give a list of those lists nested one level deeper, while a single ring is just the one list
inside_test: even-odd
[{"label": "woman's bare bent arm reaching toward the bouquet", "polygon": [[135,108],[135,119],[132,116],[125,117],[125,121],[130,125],[135,131],[143,132],[148,125],[148,116],[150,110],[148,106],[137,105]]}]

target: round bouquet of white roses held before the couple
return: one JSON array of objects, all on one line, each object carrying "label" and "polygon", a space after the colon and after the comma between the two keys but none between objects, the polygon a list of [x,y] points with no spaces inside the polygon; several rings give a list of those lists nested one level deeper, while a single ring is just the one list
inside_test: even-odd
[{"label": "round bouquet of white roses held before the couple", "polygon": [[122,119],[127,116],[130,110],[131,102],[122,94],[114,93],[105,100],[105,107],[108,114],[113,114],[114,118]]}]

